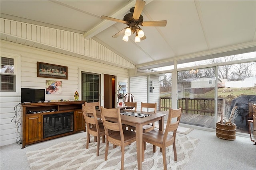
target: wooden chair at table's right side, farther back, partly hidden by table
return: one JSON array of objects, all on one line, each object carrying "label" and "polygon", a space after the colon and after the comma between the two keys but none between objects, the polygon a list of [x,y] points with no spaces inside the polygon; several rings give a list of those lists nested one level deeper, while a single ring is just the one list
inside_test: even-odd
[{"label": "wooden chair at table's right side, farther back, partly hidden by table", "polygon": [[[156,106],[157,106],[157,103],[143,103],[141,102],[141,105],[140,105],[140,111],[143,111],[143,108],[151,108],[151,109],[154,109],[153,113],[156,113]],[[148,131],[151,131],[155,128],[155,122],[152,122],[152,125],[151,124],[148,124],[148,125],[143,125],[143,133],[146,133]],[[134,126],[128,126],[128,130],[133,130],[135,131],[135,127]]]}]

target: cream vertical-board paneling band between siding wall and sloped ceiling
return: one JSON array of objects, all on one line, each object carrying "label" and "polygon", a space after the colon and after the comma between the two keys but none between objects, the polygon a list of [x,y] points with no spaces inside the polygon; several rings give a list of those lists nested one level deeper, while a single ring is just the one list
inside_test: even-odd
[{"label": "cream vertical-board paneling band between siding wall and sloped ceiling", "polygon": [[[36,41],[38,44],[36,47],[40,48],[42,45],[49,45],[53,48],[48,48],[54,51],[54,47],[76,53],[77,55],[85,55],[86,57],[92,57],[101,59],[119,66],[128,66],[134,68],[134,65],[124,60],[119,55],[113,53],[100,43],[93,39],[85,40],[82,34],[72,33],[69,31],[63,31],[59,29],[53,29],[48,27],[42,27],[39,25],[32,25],[27,23],[21,23],[1,18],[1,32],[11,34],[24,39]],[[17,37],[8,38],[9,41],[15,42]],[[19,41],[22,43],[23,41]],[[24,41],[26,42],[26,41]],[[27,42],[26,45],[34,44]],[[45,47],[45,46],[44,46]]]}]

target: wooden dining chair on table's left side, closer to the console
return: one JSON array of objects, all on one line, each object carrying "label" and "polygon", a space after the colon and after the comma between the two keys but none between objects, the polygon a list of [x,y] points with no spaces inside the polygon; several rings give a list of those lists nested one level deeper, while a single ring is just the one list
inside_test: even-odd
[{"label": "wooden dining chair on table's left side, closer to the console", "polygon": [[[102,143],[105,143],[105,129],[103,124],[99,124],[96,115],[95,106],[85,106],[82,105],[82,111],[84,115],[84,120],[87,126],[87,140],[86,140],[86,149],[89,147],[90,143],[90,135],[97,137],[97,156],[99,156],[99,149],[100,149],[100,137],[102,137]],[[93,114],[93,117],[89,116]],[[95,140],[94,140],[95,141]]]}]

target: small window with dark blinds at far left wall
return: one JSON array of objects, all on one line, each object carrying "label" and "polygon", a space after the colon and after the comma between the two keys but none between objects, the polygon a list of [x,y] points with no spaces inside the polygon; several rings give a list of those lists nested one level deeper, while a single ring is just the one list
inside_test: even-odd
[{"label": "small window with dark blinds at far left wall", "polygon": [[0,71],[0,91],[15,92],[15,74],[14,74],[14,59],[8,57],[1,58]]}]

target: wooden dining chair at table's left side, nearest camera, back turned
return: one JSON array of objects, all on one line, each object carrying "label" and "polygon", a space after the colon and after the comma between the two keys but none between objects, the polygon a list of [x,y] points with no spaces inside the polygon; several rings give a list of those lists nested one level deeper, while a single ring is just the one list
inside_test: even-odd
[{"label": "wooden dining chair at table's left side, nearest camera, back turned", "polygon": [[136,133],[122,128],[120,109],[101,107],[101,117],[106,133],[105,160],[108,160],[109,142],[121,147],[121,170],[124,169],[124,147],[136,141]]}]

